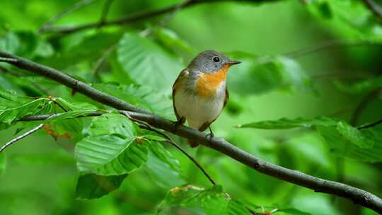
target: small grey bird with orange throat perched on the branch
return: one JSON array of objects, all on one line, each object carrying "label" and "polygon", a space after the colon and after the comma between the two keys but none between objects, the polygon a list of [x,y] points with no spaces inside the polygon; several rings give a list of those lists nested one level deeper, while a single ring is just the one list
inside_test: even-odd
[{"label": "small grey bird with orange throat perched on the branch", "polygon": [[[189,127],[199,132],[209,128],[209,136],[214,136],[211,124],[228,103],[228,69],[240,63],[214,50],[201,52],[192,59],[173,84],[173,109],[178,120],[175,129],[187,120]],[[188,144],[192,148],[199,146],[190,139]]]}]

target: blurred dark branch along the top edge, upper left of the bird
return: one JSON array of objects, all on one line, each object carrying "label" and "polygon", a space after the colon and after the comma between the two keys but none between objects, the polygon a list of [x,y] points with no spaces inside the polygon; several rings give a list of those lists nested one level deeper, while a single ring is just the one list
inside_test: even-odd
[{"label": "blurred dark branch along the top edge, upper left of the bird", "polygon": [[[182,8],[187,8],[189,6],[194,6],[197,4],[204,4],[204,3],[213,3],[213,2],[222,2],[222,1],[240,1],[240,2],[254,2],[254,3],[262,3],[265,1],[277,1],[277,0],[190,0],[187,1],[185,4],[183,4]],[[106,26],[112,26],[112,25],[125,25],[127,23],[134,23],[137,21],[141,21],[147,18],[153,18],[155,16],[159,16],[165,13],[169,13],[171,11],[176,10],[176,8],[179,5],[176,4],[174,6],[168,6],[166,8],[158,9],[157,11],[146,11],[142,13],[137,13],[132,16],[126,16],[122,18],[118,18],[112,21],[104,21],[100,23],[99,21],[94,23],[86,23],[83,25],[76,25],[76,26],[57,26],[57,27],[47,27],[44,30],[44,33],[62,33],[62,34],[70,34],[79,32],[81,30],[88,30],[91,28],[103,28]]]}]

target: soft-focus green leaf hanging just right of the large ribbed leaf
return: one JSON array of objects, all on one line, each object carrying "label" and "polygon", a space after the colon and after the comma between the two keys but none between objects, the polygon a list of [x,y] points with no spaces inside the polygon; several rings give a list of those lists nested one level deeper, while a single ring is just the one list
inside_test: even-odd
[{"label": "soft-focus green leaf hanging just right of the large ribbed leaf", "polygon": [[[152,136],[145,138],[152,139]],[[155,137],[154,140],[156,139]],[[161,187],[170,188],[185,184],[179,161],[157,141],[150,141],[146,168],[154,182]]]}]

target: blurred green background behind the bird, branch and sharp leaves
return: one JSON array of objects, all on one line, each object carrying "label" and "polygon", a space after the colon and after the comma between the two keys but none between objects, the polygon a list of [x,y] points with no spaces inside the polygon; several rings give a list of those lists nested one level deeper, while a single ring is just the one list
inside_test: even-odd
[{"label": "blurred green background behind the bird, branch and sharp leaves", "polygon": [[[159,103],[161,100],[164,103],[161,106],[163,112],[159,113],[172,120],[174,116],[168,98],[178,72],[198,52],[225,52],[243,60],[243,64],[232,68],[228,74],[228,87],[233,90],[228,106],[213,124],[216,136],[222,136],[266,161],[319,178],[341,180],[382,196],[381,154],[374,155],[377,158],[373,161],[348,158],[346,154],[339,156],[311,127],[287,130],[235,127],[237,124],[281,117],[309,119],[324,115],[353,126],[381,119],[381,91],[378,87],[381,87],[382,81],[378,76],[382,69],[382,25],[361,1],[215,2],[180,8],[173,14],[127,25],[93,28],[71,34],[36,33],[52,16],[75,3],[0,0],[0,50],[47,64],[95,86],[134,83],[149,87],[153,90],[151,94],[161,94],[164,99],[158,99],[158,96],[145,98],[147,103]],[[110,5],[108,20],[178,3],[180,1],[175,0],[115,0]],[[98,21],[104,4],[105,1],[94,1],[60,18],[54,25],[81,25]],[[165,21],[165,26],[158,26],[161,21]],[[152,32],[144,38],[139,37],[139,33],[146,28]],[[147,45],[146,50],[134,43],[144,43],[146,40],[152,43]],[[330,45],[320,46],[325,42]],[[311,47],[323,48],[291,54]],[[153,51],[150,52],[150,49]],[[94,72],[97,62],[108,50],[110,55]],[[130,53],[129,50],[138,51]],[[150,58],[137,54],[142,52],[149,54]],[[162,58],[155,55],[162,53],[168,56]],[[137,55],[139,57],[135,59]],[[248,56],[278,62],[268,67],[259,66]],[[279,59],[279,56],[287,58]],[[284,69],[279,69],[279,64]],[[86,100],[78,93],[71,96],[67,88],[57,83],[44,81],[6,64],[0,66],[21,74],[16,76],[0,71],[1,90],[28,96],[49,94],[67,100]],[[275,69],[274,73],[270,71],[272,69]],[[152,71],[153,74],[145,74],[145,71]],[[283,75],[285,72],[289,72],[287,79]],[[361,81],[366,83],[357,86]],[[303,86],[299,87],[299,84]],[[106,88],[100,86],[103,87]],[[132,91],[124,91],[122,87],[119,89],[122,93],[116,95],[129,100]],[[111,89],[105,91],[117,93]],[[370,94],[371,91],[376,93]],[[364,108],[357,113],[358,120],[352,120],[359,103],[364,103]],[[84,124],[90,122],[83,120]],[[15,132],[25,127],[28,126],[18,124],[2,130],[0,142],[3,144],[12,139]],[[183,139],[178,141],[184,143]],[[6,168],[0,175],[0,214],[156,213],[170,186],[158,184],[145,166],[130,174],[118,190],[100,199],[77,199],[79,173],[76,170],[74,145],[72,139],[58,138],[55,141],[41,130],[6,149]],[[257,206],[294,208],[310,214],[375,214],[347,199],[316,193],[256,173],[205,147],[190,149],[183,146],[233,198],[245,199]],[[169,146],[166,149],[180,162],[187,182],[209,186],[209,181],[182,153]],[[198,214],[176,210],[171,213]]]}]

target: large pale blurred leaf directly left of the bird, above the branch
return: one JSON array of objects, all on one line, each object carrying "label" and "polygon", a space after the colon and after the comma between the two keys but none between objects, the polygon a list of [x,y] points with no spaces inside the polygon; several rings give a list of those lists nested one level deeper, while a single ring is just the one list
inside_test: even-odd
[{"label": "large pale blurred leaf directly left of the bird, above the branch", "polygon": [[150,86],[160,92],[170,93],[170,86],[183,69],[180,59],[170,56],[153,41],[133,33],[122,37],[117,54],[125,75],[141,86]]}]

